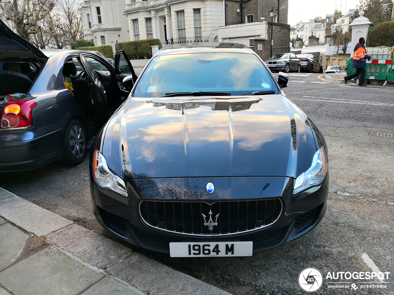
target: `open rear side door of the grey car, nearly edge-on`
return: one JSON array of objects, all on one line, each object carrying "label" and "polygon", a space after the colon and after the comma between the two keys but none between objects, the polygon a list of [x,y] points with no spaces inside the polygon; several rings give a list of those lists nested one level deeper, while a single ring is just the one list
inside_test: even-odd
[{"label": "open rear side door of the grey car, nearly edge-on", "polygon": [[95,123],[101,126],[109,117],[108,103],[105,95],[104,85],[102,85],[97,74],[93,71],[90,64],[86,61],[84,55],[80,53],[79,56],[88,77],[89,90],[96,113],[94,120],[96,121]]}]

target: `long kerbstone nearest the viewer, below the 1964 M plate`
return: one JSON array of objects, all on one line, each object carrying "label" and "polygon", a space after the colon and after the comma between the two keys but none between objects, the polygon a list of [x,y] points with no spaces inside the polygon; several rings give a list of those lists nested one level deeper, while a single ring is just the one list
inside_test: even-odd
[{"label": "long kerbstone nearest the viewer, below the 1964 M plate", "polygon": [[229,293],[190,277],[171,267],[133,253],[129,258],[107,268],[110,275],[120,278],[150,294],[229,295]]}]

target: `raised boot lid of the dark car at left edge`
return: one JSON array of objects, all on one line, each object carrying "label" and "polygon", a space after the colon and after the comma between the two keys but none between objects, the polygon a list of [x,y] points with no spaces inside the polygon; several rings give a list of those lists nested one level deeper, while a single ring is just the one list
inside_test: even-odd
[{"label": "raised boot lid of the dark car at left edge", "polygon": [[46,61],[48,57],[26,39],[11,31],[0,20],[0,57],[36,57]]}]

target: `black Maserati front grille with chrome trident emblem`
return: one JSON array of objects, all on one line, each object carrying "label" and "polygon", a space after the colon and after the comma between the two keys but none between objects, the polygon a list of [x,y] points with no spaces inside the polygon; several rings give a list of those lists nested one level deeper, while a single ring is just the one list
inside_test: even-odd
[{"label": "black Maserati front grille with chrome trident emblem", "polygon": [[245,201],[147,201],[139,212],[151,227],[192,235],[224,235],[267,227],[279,219],[280,199]]}]

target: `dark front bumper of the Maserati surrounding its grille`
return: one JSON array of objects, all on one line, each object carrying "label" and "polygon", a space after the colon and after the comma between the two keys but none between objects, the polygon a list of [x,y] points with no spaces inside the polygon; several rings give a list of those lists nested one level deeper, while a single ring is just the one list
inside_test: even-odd
[{"label": "dark front bumper of the Maserati surrounding its grille", "polygon": [[[283,177],[287,179],[287,183],[283,194],[278,196],[282,201],[283,210],[280,218],[269,227],[223,236],[194,236],[149,227],[139,214],[138,206],[141,198],[138,196],[124,198],[101,189],[93,181],[91,173],[89,177],[93,212],[99,223],[114,235],[133,245],[161,253],[169,253],[170,242],[252,241],[253,252],[286,244],[305,234],[322,220],[326,211],[329,186],[327,173],[326,179],[320,186],[293,196],[289,188],[293,186],[294,179]],[[268,192],[266,195],[270,197],[269,194]]]}]

